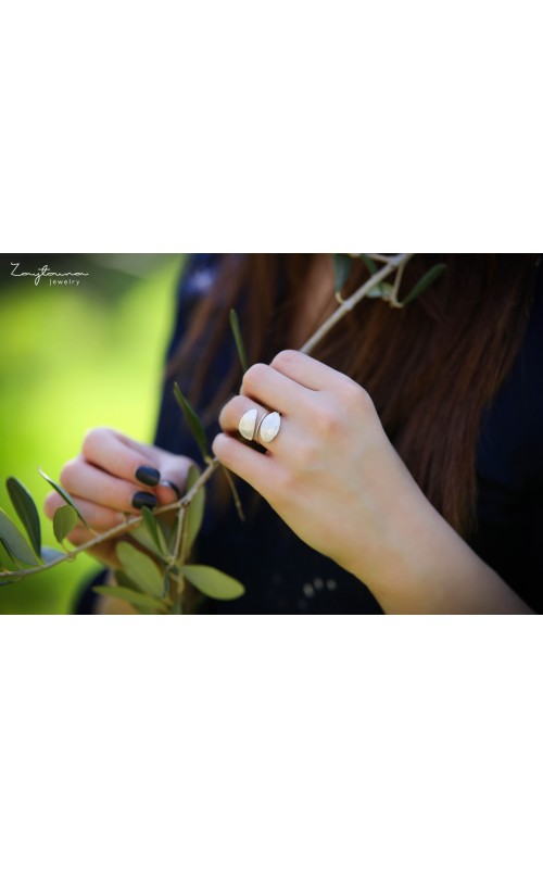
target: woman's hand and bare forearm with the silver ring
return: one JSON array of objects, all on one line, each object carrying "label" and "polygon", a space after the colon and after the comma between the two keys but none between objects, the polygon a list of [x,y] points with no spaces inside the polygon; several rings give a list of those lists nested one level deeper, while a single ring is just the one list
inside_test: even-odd
[{"label": "woman's hand and bare forearm with the silver ring", "polygon": [[[238,436],[252,408],[258,418],[281,414],[266,454]],[[249,369],[219,421],[218,459],[303,541],[367,584],[387,612],[527,612],[431,506],[371,399],[349,377],[283,351]]]}]

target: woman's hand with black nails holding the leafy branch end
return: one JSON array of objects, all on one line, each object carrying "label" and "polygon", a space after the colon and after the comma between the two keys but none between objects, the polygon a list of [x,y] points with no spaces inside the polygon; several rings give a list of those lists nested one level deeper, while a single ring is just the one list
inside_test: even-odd
[{"label": "woman's hand with black nails holding the leafy branch end", "polygon": [[[113,429],[94,428],[85,437],[80,455],[64,465],[60,479],[81,516],[100,533],[123,522],[127,515],[138,515],[143,505],[177,501],[192,464],[189,458],[138,443]],[[52,518],[63,504],[63,499],[51,492],[45,502],[46,515]],[[76,546],[91,538],[83,524],[68,536]],[[89,555],[118,567],[114,554],[118,540],[97,544]]]}]

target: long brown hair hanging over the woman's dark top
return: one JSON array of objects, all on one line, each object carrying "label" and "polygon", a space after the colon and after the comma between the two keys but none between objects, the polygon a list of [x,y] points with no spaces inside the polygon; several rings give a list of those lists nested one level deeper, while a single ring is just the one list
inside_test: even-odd
[{"label": "long brown hair hanging over the woman's dark top", "polygon": [[[191,366],[198,404],[215,354],[227,338],[230,307],[241,319],[250,362],[292,347],[296,312],[315,254],[228,254],[212,292],[194,312],[169,373]],[[467,536],[476,506],[476,448],[484,410],[509,371],[529,319],[536,254],[417,254],[402,286],[431,265],[439,281],[405,308],[364,300],[314,355],[371,395],[384,430],[445,519]],[[344,294],[367,277],[357,262]],[[298,323],[299,333],[300,324]],[[308,336],[307,336],[308,337]],[[204,340],[202,340],[204,339]],[[198,365],[193,354],[199,348]],[[206,408],[209,419],[238,391],[235,361]]]}]

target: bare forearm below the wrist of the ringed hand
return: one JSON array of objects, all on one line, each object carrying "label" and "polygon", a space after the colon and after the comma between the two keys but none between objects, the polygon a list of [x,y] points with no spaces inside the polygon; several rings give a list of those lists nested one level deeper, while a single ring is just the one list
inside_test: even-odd
[{"label": "bare forearm below the wrist of the ringed hand", "polygon": [[375,575],[352,572],[390,615],[533,613],[428,502],[395,529]]}]

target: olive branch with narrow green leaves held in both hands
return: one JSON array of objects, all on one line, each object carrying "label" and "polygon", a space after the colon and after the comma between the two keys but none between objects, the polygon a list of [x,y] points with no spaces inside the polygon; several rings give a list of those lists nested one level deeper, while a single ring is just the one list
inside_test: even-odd
[{"label": "olive branch with narrow green leaves held in both hands", "polygon": [[[404,269],[414,254],[333,254],[334,294],[338,307],[315,333],[300,348],[302,353],[311,353],[315,347],[364,298],[380,298],[393,307],[404,307],[427,290],[442,275],[443,264],[433,266],[400,300],[400,289]],[[368,273],[368,279],[346,299],[342,295],[353,262],[361,259]],[[393,282],[387,280],[393,276]],[[230,326],[243,371],[248,368],[241,330],[236,312],[230,312]],[[241,504],[232,476],[219,461],[211,455],[204,428],[182,394],[178,385],[174,386],[175,399],[181,410],[188,428],[194,438],[205,465],[200,473],[191,467],[187,479],[187,492],[177,501],[153,511],[143,507],[141,515],[126,518],[125,521],[108,531],[94,532],[77,509],[70,494],[58,482],[40,470],[42,477],[52,486],[64,501],[53,516],[53,532],[63,550],[41,545],[40,520],[36,504],[23,483],[10,477],[7,480],[8,493],[23,525],[26,537],[0,509],[0,587],[18,582],[27,576],[45,572],[64,562],[73,561],[83,552],[88,552],[100,543],[116,537],[128,537],[131,542],[117,543],[115,555],[121,567],[114,571],[115,585],[98,585],[99,594],[126,601],[141,614],[180,615],[184,613],[184,595],[187,583],[197,592],[216,600],[235,600],[243,594],[244,588],[238,580],[209,565],[191,564],[194,542],[201,529],[205,509],[205,484],[217,469],[226,475],[236,507],[243,518]],[[64,541],[78,522],[83,522],[92,534],[91,539],[73,549]]]}]

